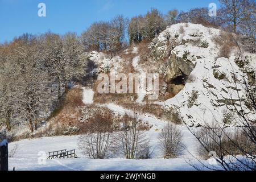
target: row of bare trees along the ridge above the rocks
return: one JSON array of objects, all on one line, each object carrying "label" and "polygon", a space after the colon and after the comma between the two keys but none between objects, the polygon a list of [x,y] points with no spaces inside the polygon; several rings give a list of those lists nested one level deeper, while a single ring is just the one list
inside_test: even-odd
[{"label": "row of bare trees along the ridge above the rocks", "polygon": [[[255,52],[255,2],[253,0],[220,0],[221,7],[217,16],[209,16],[209,9],[195,8],[187,12],[170,10],[167,14],[151,9],[145,15],[130,20],[118,15],[109,22],[95,22],[82,33],[81,40],[86,51],[114,52],[127,45],[150,41],[167,26],[190,22],[207,27],[225,28],[226,31],[241,34],[248,44],[247,48]],[[127,39],[129,43],[127,43]]]}]

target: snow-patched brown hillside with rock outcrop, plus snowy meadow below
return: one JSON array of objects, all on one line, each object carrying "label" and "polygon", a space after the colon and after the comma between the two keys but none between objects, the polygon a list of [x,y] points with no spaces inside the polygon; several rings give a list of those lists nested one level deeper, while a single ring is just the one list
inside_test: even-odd
[{"label": "snow-patched brown hillside with rock outcrop, plus snowy meadow below", "polygon": [[[220,169],[199,154],[199,142],[193,132],[214,123],[236,133],[237,126],[243,125],[238,113],[244,113],[250,121],[256,118],[246,87],[255,83],[255,54],[241,51],[240,43],[232,42],[227,36],[237,35],[201,24],[177,23],[167,27],[151,42],[134,44],[114,56],[98,51],[82,53],[86,75],[77,78],[70,88],[64,88],[67,90],[63,98],[54,110],[44,113],[47,117],[38,122],[38,129],[31,134],[28,128],[19,125],[7,134],[14,135],[14,140],[22,139],[10,143],[11,149],[18,146],[16,154],[10,158],[10,169],[194,169],[188,161],[202,169],[207,169],[203,164]],[[143,82],[148,73],[154,73],[156,75],[152,77],[159,78],[159,93],[152,100],[156,90],[134,83],[133,90],[137,89],[138,93],[100,93],[101,79],[98,77],[102,73],[106,77],[114,73],[114,76],[122,74],[127,78],[129,73],[137,73],[139,82]],[[118,77],[114,84],[118,80],[122,79]],[[109,92],[111,80],[102,86]],[[139,120],[138,133],[143,131],[149,140],[150,159],[129,160],[119,153],[102,161],[88,159],[88,154],[79,147],[80,136],[94,134],[92,129],[101,132],[98,131],[101,125],[94,125],[98,120],[110,122],[105,133],[125,131],[127,118],[129,122],[134,118]],[[182,151],[176,152],[170,157],[172,159],[163,159],[169,156],[159,144],[159,135],[168,123],[180,131]],[[48,155],[47,152],[62,148],[76,149],[81,158],[46,160],[45,166],[36,163],[38,154]]]}]

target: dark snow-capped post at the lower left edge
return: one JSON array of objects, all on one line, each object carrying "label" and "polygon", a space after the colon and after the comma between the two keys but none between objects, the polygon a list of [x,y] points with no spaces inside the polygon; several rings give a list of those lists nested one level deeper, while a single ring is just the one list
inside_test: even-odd
[{"label": "dark snow-capped post at the lower left edge", "polygon": [[0,171],[8,171],[8,142],[0,143]]}]

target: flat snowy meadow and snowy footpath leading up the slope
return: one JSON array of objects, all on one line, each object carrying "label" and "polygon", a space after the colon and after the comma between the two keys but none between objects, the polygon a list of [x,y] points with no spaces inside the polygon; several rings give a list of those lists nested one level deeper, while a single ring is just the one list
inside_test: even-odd
[{"label": "flat snowy meadow and snowy footpath leading up the slope", "polygon": [[[89,101],[93,99],[93,93],[87,89],[84,89],[83,96],[83,100],[85,100],[85,98],[88,98]],[[88,101],[85,103],[88,103]],[[100,106],[108,107],[110,110],[119,114],[137,114],[114,104]],[[146,135],[150,138],[153,151],[152,159],[88,159],[77,146],[79,136],[44,137],[10,143],[10,150],[15,146],[18,146],[18,150],[14,158],[9,159],[9,168],[10,170],[13,169],[13,167],[15,167],[15,170],[193,170],[194,168],[189,163],[192,162],[193,164],[200,165],[199,162],[192,157],[192,155],[196,155],[196,140],[188,131],[187,127],[178,126],[184,137],[183,154],[176,159],[163,159],[163,154],[158,143],[158,135],[160,129],[166,124],[166,121],[156,119],[150,114],[139,115],[139,117],[152,125],[152,128],[146,132]],[[63,149],[76,149],[76,154],[79,158],[46,159],[48,152]],[[204,163],[207,162],[205,161]]]}]

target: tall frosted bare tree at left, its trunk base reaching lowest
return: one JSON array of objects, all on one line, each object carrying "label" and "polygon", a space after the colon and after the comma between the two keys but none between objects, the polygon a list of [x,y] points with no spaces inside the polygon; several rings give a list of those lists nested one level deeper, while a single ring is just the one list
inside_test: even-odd
[{"label": "tall frosted bare tree at left, its trunk base reaching lowest", "polygon": [[49,104],[48,74],[44,70],[42,51],[36,38],[19,39],[19,46],[13,50],[10,59],[14,60],[15,82],[14,105],[18,106],[20,118],[28,122],[31,132],[37,129],[37,122],[44,108]]}]

